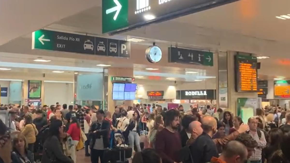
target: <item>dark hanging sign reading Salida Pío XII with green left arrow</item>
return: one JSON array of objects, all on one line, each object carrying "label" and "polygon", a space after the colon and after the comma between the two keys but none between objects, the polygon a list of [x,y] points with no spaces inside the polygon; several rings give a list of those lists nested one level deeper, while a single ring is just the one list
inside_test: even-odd
[{"label": "dark hanging sign reading Salida P\u00edo XII with green left arrow", "polygon": [[32,33],[32,49],[129,58],[131,43],[102,37],[37,30]]}]

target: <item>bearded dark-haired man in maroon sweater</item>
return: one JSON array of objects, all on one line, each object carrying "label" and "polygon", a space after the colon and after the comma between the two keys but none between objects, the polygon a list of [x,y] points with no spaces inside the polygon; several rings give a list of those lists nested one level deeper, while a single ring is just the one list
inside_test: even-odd
[{"label": "bearded dark-haired man in maroon sweater", "polygon": [[156,135],[156,151],[163,163],[177,163],[180,162],[178,152],[182,147],[178,132],[180,113],[172,109],[165,116],[165,128]]}]

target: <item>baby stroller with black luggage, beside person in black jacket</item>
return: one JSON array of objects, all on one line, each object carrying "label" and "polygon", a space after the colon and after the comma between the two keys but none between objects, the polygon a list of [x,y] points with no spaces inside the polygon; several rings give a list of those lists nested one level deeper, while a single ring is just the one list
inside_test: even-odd
[{"label": "baby stroller with black luggage, beside person in black jacket", "polygon": [[125,138],[121,131],[110,134],[110,149],[105,151],[104,159],[111,163],[128,163],[132,156],[132,148],[125,144]]}]

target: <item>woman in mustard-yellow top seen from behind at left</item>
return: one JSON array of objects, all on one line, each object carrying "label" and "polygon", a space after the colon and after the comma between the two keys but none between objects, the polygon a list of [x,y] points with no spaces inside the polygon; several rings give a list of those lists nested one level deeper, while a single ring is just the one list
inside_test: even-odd
[{"label": "woman in mustard-yellow top seen from behind at left", "polygon": [[21,130],[21,134],[24,135],[27,140],[29,151],[33,152],[38,131],[35,124],[32,123],[32,117],[30,115],[24,116],[24,127]]}]

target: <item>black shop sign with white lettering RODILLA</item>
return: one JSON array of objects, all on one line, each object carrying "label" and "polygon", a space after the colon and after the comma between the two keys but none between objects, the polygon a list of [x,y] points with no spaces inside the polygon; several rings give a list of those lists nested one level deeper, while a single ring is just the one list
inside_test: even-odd
[{"label": "black shop sign with white lettering RODILLA", "polygon": [[176,99],[215,99],[215,90],[177,90]]}]

